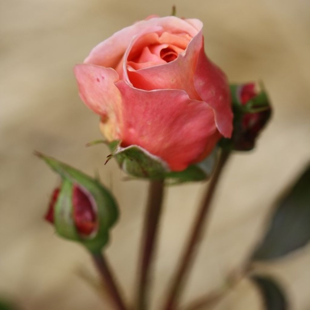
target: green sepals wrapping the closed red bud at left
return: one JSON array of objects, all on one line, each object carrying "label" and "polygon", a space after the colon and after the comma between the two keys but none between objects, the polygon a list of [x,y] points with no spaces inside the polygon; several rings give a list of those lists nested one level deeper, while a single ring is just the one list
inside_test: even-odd
[{"label": "green sepals wrapping the closed red bud at left", "polygon": [[[56,215],[56,230],[57,233],[64,238],[69,238],[71,240],[78,241],[88,248],[91,252],[99,252],[108,242],[108,232],[109,229],[115,224],[118,219],[118,207],[117,203],[112,196],[112,194],[106,189],[98,179],[93,179],[83,172],[66,165],[55,158],[45,156],[41,153],[37,153],[48,166],[55,170],[62,178],[62,189],[60,191],[60,197],[56,202],[56,209],[60,212],[60,204],[65,203],[65,209],[67,206],[71,206],[71,213],[66,210],[63,214],[65,215],[64,219],[57,219],[59,215]],[[89,193],[91,198],[95,201],[97,208],[97,221],[98,229],[95,233],[90,236],[82,237],[78,234],[75,229],[73,222],[73,205],[72,205],[72,187],[73,184],[77,184],[84,191]],[[71,188],[70,188],[71,187]],[[71,194],[69,190],[71,189]],[[66,200],[63,195],[67,195]],[[69,200],[71,197],[71,204]],[[61,199],[60,199],[61,198]],[[61,201],[60,201],[61,200]],[[69,207],[68,207],[69,208]],[[58,213],[57,212],[57,213]],[[71,221],[69,221],[69,215],[71,215]],[[68,228],[64,228],[65,223],[68,224]],[[75,232],[74,232],[75,230]]]}]

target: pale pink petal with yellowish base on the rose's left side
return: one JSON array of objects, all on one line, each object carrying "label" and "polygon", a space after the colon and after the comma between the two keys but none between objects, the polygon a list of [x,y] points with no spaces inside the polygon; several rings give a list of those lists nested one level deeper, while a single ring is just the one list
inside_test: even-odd
[{"label": "pale pink petal with yellowish base on the rose's left side", "polygon": [[118,75],[111,68],[92,64],[77,64],[74,74],[84,103],[102,117],[104,135],[108,140],[119,139],[122,98],[114,82]]}]

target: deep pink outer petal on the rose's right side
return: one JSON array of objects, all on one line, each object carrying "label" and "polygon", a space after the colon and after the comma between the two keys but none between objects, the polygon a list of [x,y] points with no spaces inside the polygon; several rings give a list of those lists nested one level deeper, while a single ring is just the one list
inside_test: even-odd
[{"label": "deep pink outer petal on the rose's right side", "polygon": [[213,64],[203,49],[200,50],[194,74],[197,93],[214,109],[215,123],[226,138],[232,135],[232,110],[230,91],[225,74]]}]

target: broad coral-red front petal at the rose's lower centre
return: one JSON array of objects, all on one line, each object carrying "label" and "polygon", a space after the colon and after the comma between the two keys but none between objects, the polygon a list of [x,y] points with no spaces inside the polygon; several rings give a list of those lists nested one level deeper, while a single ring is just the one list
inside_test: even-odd
[{"label": "broad coral-red front petal at the rose's lower centre", "polygon": [[116,86],[123,102],[122,146],[139,145],[173,171],[184,170],[209,149],[209,138],[217,130],[205,102],[191,100],[180,90],[144,91],[125,81]]}]

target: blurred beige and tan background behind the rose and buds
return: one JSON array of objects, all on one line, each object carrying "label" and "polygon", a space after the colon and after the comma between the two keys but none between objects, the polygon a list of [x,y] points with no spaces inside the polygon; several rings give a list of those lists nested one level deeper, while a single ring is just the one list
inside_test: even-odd
[{"label": "blurred beige and tan background behind the rose and buds", "polygon": [[[206,52],[231,82],[262,80],[274,107],[257,148],[236,153],[216,193],[206,237],[183,303],[224,283],[260,237],[272,202],[310,156],[310,2],[306,0],[2,0],[0,3],[0,298],[20,309],[110,309],[84,249],[43,221],[58,180],[38,150],[94,174],[117,196],[121,219],[107,256],[131,300],[146,181],[104,166],[98,117],[78,97],[72,68],[97,43],[147,15],[204,23]],[[167,190],[157,251],[153,309],[160,304],[206,184]],[[292,309],[310,309],[310,247],[262,265],[287,290]],[[242,281],[217,309],[262,309]]]}]

